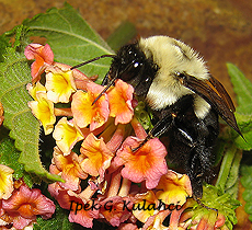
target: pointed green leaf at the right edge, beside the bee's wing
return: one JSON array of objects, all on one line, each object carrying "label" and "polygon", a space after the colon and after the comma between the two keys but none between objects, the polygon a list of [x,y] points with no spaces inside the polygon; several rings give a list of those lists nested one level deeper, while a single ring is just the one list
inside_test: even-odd
[{"label": "pointed green leaf at the right edge, beside the bee's wing", "polygon": [[227,64],[228,73],[231,78],[233,91],[237,94],[237,112],[244,115],[252,115],[252,83],[232,64]]}]

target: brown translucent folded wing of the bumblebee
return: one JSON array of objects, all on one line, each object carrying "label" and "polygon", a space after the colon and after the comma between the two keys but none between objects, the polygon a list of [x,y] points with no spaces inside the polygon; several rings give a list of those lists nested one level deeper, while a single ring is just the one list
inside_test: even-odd
[{"label": "brown translucent folded wing of the bumblebee", "polygon": [[204,100],[221,116],[221,118],[231,126],[241,137],[242,134],[237,125],[234,117],[234,106],[224,85],[214,77],[209,80],[198,80],[193,76],[186,76],[181,79],[184,87],[188,88]]}]

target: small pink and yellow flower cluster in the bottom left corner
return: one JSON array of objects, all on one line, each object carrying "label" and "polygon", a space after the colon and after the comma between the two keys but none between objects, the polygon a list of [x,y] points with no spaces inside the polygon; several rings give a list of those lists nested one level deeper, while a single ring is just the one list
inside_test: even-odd
[{"label": "small pink and yellow flower cluster in the bottom left corner", "polygon": [[37,188],[28,188],[22,181],[13,180],[13,170],[0,164],[0,229],[24,229],[41,215],[48,219],[55,204]]}]

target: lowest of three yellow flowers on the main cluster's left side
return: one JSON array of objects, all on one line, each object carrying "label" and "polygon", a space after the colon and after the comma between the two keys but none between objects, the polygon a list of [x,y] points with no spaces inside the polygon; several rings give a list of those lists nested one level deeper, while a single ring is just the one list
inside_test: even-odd
[{"label": "lowest of three yellow flowers on the main cluster's left side", "polygon": [[65,156],[70,153],[71,149],[78,141],[84,139],[81,130],[73,124],[72,120],[67,120],[67,117],[62,117],[57,123],[53,137]]}]

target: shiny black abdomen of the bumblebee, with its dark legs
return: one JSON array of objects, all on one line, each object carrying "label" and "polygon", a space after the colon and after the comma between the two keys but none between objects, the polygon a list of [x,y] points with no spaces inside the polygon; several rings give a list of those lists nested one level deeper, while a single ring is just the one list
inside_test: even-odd
[{"label": "shiny black abdomen of the bumblebee, with its dark legs", "polygon": [[204,119],[199,119],[193,106],[185,114],[177,115],[170,131],[169,156],[185,169],[195,199],[202,198],[203,181],[213,174],[213,147],[218,134],[217,113],[211,110]]}]

